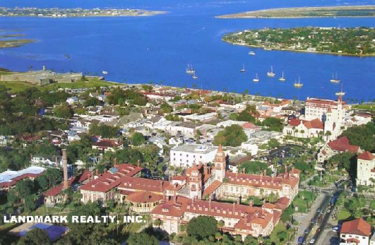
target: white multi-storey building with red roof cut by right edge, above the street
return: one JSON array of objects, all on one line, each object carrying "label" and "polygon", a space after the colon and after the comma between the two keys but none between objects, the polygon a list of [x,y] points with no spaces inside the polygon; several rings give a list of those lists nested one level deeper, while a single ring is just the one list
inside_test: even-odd
[{"label": "white multi-storey building with red roof cut by right edge, above the street", "polygon": [[375,184],[375,155],[365,151],[357,157],[357,185]]}]

